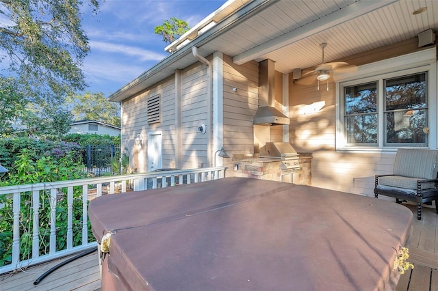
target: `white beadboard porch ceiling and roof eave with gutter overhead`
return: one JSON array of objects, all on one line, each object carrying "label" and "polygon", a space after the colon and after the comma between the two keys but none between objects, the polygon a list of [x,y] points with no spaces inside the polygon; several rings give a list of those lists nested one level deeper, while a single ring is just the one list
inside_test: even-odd
[{"label": "white beadboard porch ceiling and roof eave with gutter overhead", "polygon": [[[272,59],[283,74],[311,68],[322,61],[319,46],[327,42],[324,60],[351,55],[415,38],[438,30],[434,0],[231,0],[166,47],[172,54],[159,61],[109,100],[120,102],[186,68],[202,56],[220,51],[235,64]],[[415,10],[427,6],[422,14]],[[211,25],[214,20],[216,24]],[[201,31],[201,33],[198,33]]]}]

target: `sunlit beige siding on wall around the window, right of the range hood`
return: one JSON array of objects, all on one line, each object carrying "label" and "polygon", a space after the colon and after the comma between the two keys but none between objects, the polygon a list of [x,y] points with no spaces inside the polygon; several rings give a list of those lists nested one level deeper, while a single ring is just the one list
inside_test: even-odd
[{"label": "sunlit beige siding on wall around the window, right of the range hood", "polygon": [[[411,53],[416,49],[411,42],[378,48],[349,59],[353,64]],[[407,50],[407,47],[410,49]],[[374,175],[390,174],[394,154],[336,152],[336,96],[335,83],[296,85],[289,76],[289,142],[298,151],[313,152],[312,186],[348,193],[374,195]]]}]

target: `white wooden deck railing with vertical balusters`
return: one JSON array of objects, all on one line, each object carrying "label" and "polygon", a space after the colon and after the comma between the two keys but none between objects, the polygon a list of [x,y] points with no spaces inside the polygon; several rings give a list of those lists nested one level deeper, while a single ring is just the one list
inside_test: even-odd
[{"label": "white wooden deck railing with vertical balusters", "polygon": [[[18,186],[0,187],[0,197],[6,195],[12,203],[12,213],[10,220],[13,217],[12,231],[12,263],[0,267],[0,274],[14,271],[19,268],[25,268],[34,264],[47,262],[55,258],[61,258],[65,255],[77,253],[96,246],[93,242],[94,238],[88,237],[88,201],[93,197],[99,197],[105,194],[125,193],[127,191],[140,191],[145,189],[164,188],[175,186],[178,184],[190,184],[204,182],[208,180],[216,180],[224,178],[226,167],[187,169],[175,171],[158,171],[145,174],[131,174],[123,176],[109,176],[104,178],[90,178],[83,180],[69,180],[62,182],[46,182],[38,184],[25,184]],[[75,188],[74,188],[75,187]],[[74,191],[81,193],[81,242],[73,242],[73,193]],[[25,197],[25,195],[27,198]],[[40,195],[48,195],[50,201],[49,212],[42,213]],[[67,225],[66,225],[66,243],[63,249],[57,249],[57,216],[60,213],[56,212],[57,202],[60,201],[60,195],[67,199]],[[23,199],[27,206],[23,209],[21,201]],[[76,197],[77,199],[77,197]],[[0,208],[5,205],[0,205]],[[27,212],[26,214],[23,212]],[[65,213],[64,213],[65,214]],[[25,217],[27,215],[27,217]],[[49,215],[50,232],[49,232],[49,251],[42,253],[40,250],[40,227],[39,219],[42,215]],[[26,258],[20,254],[21,246],[21,230],[23,230],[23,217],[27,221],[32,221],[27,232],[27,236],[31,236],[31,249],[27,251]],[[0,217],[5,219],[5,217]],[[77,225],[76,225],[77,226]]]}]

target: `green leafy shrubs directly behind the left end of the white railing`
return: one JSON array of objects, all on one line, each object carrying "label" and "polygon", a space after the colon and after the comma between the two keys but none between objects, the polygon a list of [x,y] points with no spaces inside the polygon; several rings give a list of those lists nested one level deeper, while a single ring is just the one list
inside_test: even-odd
[{"label": "green leafy shrubs directly behind the left end of the white railing", "polygon": [[[86,178],[82,171],[81,163],[73,161],[72,152],[66,152],[60,158],[42,156],[34,159],[31,150],[22,150],[18,160],[14,163],[14,174],[8,180],[0,181],[0,186],[17,184],[34,184],[38,182],[51,182],[58,180],[73,180]],[[73,246],[80,245],[82,238],[82,188],[73,189]],[[56,249],[66,248],[68,205],[66,199],[67,189],[58,189],[56,197]],[[32,249],[32,225],[34,213],[32,193],[21,194],[20,217],[20,257],[21,260],[30,258]],[[50,191],[40,191],[39,209],[39,251],[40,255],[49,252],[49,239],[51,230],[51,197]],[[0,197],[0,266],[10,264],[12,260],[12,225],[14,222],[12,212],[12,197]],[[90,221],[88,223],[88,238],[92,239]]]}]

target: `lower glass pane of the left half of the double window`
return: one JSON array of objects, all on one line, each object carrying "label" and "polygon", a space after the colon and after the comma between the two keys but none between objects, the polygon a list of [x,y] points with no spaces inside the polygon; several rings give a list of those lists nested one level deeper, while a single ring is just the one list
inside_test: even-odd
[{"label": "lower glass pane of the left half of the double window", "polygon": [[377,143],[377,114],[352,115],[346,117],[347,143]]}]

